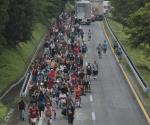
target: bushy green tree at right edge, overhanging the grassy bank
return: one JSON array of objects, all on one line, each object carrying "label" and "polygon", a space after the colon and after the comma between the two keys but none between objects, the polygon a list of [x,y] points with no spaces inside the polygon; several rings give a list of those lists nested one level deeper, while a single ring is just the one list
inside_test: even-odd
[{"label": "bushy green tree at right edge, overhanging the grassy bank", "polygon": [[150,45],[150,2],[130,15],[128,26],[128,33],[134,46],[141,43]]}]

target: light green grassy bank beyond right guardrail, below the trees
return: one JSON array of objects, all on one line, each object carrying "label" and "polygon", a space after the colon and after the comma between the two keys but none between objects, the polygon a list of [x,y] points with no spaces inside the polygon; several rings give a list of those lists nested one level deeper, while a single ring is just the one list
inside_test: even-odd
[{"label": "light green grassy bank beyond right guardrail, below the trees", "polygon": [[132,59],[132,61],[142,74],[143,78],[150,86],[150,57],[148,57],[147,55],[148,48],[144,46],[133,48],[132,44],[130,43],[129,36],[126,35],[124,31],[125,28],[122,26],[122,24],[112,19],[109,19],[109,23],[118,39],[122,42],[125,49],[127,50],[129,57]]}]

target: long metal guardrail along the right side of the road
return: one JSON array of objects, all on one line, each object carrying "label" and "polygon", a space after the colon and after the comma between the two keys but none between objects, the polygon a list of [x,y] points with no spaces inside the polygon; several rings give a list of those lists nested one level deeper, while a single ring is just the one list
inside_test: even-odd
[{"label": "long metal guardrail along the right side of the road", "polygon": [[132,62],[132,60],[130,59],[130,57],[127,54],[127,51],[125,50],[125,48],[123,47],[123,45],[121,44],[121,42],[118,40],[117,36],[115,35],[115,33],[113,32],[107,18],[105,17],[105,22],[107,24],[108,30],[111,33],[113,39],[115,42],[117,42],[118,46],[122,49],[123,55],[127,61],[127,63],[129,64],[129,67],[131,68],[133,74],[135,75],[136,79],[138,80],[140,86],[142,87],[143,91],[147,94],[150,94],[150,88],[147,86],[146,82],[144,81],[144,79],[142,78],[141,74],[139,73],[138,69],[136,68],[135,64]]}]

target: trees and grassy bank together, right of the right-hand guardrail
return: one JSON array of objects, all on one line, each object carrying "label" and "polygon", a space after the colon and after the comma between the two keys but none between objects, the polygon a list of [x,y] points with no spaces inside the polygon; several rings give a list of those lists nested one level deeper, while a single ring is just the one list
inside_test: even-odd
[{"label": "trees and grassy bank together, right of the right-hand guardrail", "polygon": [[150,2],[110,0],[113,31],[150,86]]}]

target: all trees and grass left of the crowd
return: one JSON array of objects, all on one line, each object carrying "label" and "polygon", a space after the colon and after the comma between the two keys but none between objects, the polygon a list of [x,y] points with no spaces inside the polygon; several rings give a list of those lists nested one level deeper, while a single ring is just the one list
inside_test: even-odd
[{"label": "all trees and grass left of the crowd", "polygon": [[[66,3],[68,10],[72,9],[72,2],[73,0],[1,0],[0,95],[24,73],[48,27],[65,9]],[[11,103],[12,105],[14,104]],[[9,106],[0,101],[0,123]]]}]

